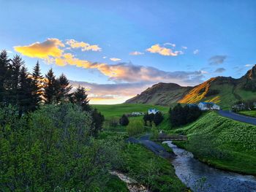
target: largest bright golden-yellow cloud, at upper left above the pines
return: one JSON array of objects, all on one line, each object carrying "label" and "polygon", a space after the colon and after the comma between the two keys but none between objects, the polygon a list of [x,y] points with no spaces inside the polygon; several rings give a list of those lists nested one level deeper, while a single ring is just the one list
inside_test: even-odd
[{"label": "largest bright golden-yellow cloud, at upper left above the pines", "polygon": [[61,57],[63,53],[61,47],[65,47],[61,40],[50,38],[45,42],[35,42],[26,46],[15,46],[14,49],[18,53],[29,56],[31,58],[49,59],[50,57]]}]

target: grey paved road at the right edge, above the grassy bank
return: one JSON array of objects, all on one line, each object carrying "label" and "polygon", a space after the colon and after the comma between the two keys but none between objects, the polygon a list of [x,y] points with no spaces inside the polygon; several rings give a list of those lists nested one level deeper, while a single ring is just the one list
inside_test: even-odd
[{"label": "grey paved road at the right edge, above the grassy bank", "polygon": [[224,110],[219,110],[219,115],[222,115],[225,118],[230,118],[233,120],[238,120],[244,123],[249,123],[252,125],[256,126],[256,118],[250,118],[244,115],[239,115],[235,112],[230,112],[230,111],[224,111]]}]

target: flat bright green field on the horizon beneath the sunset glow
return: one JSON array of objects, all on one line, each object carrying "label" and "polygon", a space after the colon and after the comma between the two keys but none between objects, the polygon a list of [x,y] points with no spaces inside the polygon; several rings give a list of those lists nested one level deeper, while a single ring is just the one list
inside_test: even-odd
[{"label": "flat bright green field on the horizon beneath the sunset glow", "polygon": [[150,108],[156,108],[165,113],[169,107],[162,107],[152,104],[93,104],[94,108],[102,112],[105,118],[121,117],[123,114],[131,112],[147,112]]}]

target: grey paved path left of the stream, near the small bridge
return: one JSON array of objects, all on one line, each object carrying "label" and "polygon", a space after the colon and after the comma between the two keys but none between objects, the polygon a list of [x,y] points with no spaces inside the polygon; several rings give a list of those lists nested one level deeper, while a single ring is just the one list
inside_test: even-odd
[{"label": "grey paved path left of the stream, near the small bridge", "polygon": [[163,158],[173,158],[176,155],[174,153],[168,153],[164,147],[161,145],[157,144],[156,142],[152,142],[149,140],[150,135],[144,135],[143,137],[140,137],[140,139],[135,139],[134,137],[129,137],[127,139],[127,142],[132,142],[132,143],[140,143],[144,147],[146,147],[148,150],[151,150],[153,153],[156,155],[159,155]]}]

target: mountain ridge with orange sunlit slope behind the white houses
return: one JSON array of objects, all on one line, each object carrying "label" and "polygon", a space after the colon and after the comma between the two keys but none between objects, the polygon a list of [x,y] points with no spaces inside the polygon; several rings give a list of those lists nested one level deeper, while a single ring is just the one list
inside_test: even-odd
[{"label": "mountain ridge with orange sunlit slope behind the white houses", "polygon": [[170,105],[212,101],[223,108],[229,108],[236,101],[248,99],[256,100],[256,65],[239,79],[213,77],[195,87],[159,82],[126,103]]}]

